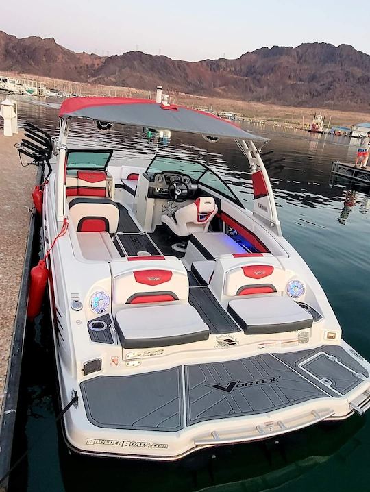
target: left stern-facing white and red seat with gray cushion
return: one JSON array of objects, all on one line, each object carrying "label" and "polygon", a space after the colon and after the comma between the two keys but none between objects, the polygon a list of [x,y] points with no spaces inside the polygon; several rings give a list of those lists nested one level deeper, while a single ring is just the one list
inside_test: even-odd
[{"label": "left stern-facing white and red seat with gray cushion", "polygon": [[188,275],[173,256],[133,256],[111,263],[112,312],[124,348],[207,340],[208,326],[188,304]]}]

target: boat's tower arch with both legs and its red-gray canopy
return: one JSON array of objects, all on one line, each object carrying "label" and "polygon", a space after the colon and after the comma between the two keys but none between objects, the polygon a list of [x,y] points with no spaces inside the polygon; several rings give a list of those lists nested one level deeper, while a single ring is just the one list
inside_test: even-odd
[{"label": "boat's tower arch with both legs and its red-gray canopy", "polygon": [[273,191],[259,150],[268,138],[245,132],[234,123],[209,113],[183,106],[164,105],[151,99],[71,97],[60,106],[59,116],[61,124],[57,148],[56,215],[60,224],[65,215],[64,167],[69,124],[71,119],[83,118],[236,140],[248,159],[252,173],[254,215],[269,227],[275,227],[278,235],[281,234]]}]

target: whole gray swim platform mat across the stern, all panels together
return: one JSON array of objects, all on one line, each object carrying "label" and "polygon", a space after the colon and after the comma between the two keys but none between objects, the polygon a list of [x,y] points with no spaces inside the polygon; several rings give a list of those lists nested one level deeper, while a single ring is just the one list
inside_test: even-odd
[{"label": "whole gray swim platform mat across the stern, all panels together", "polygon": [[[82,382],[81,391],[86,414],[95,426],[176,432],[185,425],[183,384],[186,425],[191,426],[258,415],[311,399],[341,397],[362,382],[356,373],[369,376],[342,347],[323,345],[286,354],[186,365],[184,381],[180,366],[132,376],[97,376]],[[321,378],[330,379],[331,387],[320,382]]]}]

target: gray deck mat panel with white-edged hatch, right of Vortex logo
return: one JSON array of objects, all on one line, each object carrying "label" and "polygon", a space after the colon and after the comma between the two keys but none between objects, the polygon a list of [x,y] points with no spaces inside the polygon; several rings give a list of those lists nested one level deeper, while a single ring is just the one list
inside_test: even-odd
[{"label": "gray deck mat panel with white-edged hatch, right of Vortex logo", "polygon": [[[368,371],[362,367],[360,362],[337,345],[322,345],[317,349],[274,354],[274,356],[334,397],[345,395],[358,386],[362,382],[362,378],[361,376],[358,377],[357,374],[366,378],[369,376]],[[305,362],[307,359],[310,360]],[[328,380],[328,384],[323,384],[321,380]],[[338,393],[340,394],[338,395]]]}]

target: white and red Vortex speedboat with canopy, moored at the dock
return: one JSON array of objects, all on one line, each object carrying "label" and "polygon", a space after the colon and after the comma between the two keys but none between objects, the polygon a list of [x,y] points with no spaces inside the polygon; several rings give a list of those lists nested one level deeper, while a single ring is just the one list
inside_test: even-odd
[{"label": "white and red Vortex speedboat with canopy, moored at the dock", "polygon": [[[253,210],[201,159],[167,149],[149,165],[112,165],[103,133],[73,148],[71,125],[86,119],[103,132],[132,125],[236,142]],[[369,363],[343,341],[319,282],[282,236],[266,141],[168,103],[62,103],[42,242],[75,452],[177,460],[369,408]]]}]

